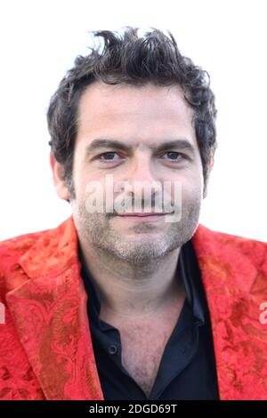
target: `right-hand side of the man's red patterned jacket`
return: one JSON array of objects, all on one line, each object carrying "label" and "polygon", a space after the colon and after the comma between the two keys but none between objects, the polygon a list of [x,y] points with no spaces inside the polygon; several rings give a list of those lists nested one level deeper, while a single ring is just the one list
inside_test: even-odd
[{"label": "right-hand side of the man's red patterned jacket", "polygon": [[[220,398],[264,399],[267,333],[259,321],[259,299],[251,289],[259,279],[255,259],[262,266],[265,260],[266,267],[266,249],[263,243],[246,243],[203,225],[192,244],[210,312]],[[267,274],[264,277],[266,283]]]}]

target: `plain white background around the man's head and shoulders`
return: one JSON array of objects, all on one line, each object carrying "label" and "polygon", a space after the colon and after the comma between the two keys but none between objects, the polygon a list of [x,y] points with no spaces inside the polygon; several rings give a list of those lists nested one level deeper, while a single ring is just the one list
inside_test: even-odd
[{"label": "plain white background around the man's head and shoulders", "polygon": [[211,76],[218,149],[200,222],[267,241],[266,1],[1,1],[0,239],[70,214],[53,189],[45,112],[62,76],[92,44],[125,26],[173,32]]}]

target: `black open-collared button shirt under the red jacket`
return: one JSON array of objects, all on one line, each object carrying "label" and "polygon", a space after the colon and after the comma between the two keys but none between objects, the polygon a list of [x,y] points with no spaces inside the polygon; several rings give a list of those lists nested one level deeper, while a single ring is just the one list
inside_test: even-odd
[{"label": "black open-collared button shirt under the red jacket", "polygon": [[177,263],[178,277],[183,280],[186,298],[166,344],[150,398],[122,366],[119,331],[100,319],[100,293],[85,265],[80,247],[79,257],[88,294],[93,352],[104,399],[218,399],[209,313],[191,242],[182,245]]}]

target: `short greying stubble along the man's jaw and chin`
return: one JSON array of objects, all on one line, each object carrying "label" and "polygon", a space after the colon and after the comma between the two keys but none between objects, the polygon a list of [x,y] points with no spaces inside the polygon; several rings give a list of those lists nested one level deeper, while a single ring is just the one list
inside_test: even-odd
[{"label": "short greying stubble along the man's jaw and chin", "polygon": [[127,237],[114,229],[114,213],[88,213],[85,203],[77,201],[75,206],[78,235],[85,245],[109,258],[143,266],[166,257],[190,240],[198,227],[201,197],[182,205],[180,221],[164,222],[163,228],[153,222],[133,224],[131,236]]}]

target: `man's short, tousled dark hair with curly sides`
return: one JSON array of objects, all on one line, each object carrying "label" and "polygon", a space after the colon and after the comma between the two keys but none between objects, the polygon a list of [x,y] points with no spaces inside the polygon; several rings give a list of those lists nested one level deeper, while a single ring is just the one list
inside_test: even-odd
[{"label": "man's short, tousled dark hair with curly sides", "polygon": [[174,36],[157,28],[138,36],[139,28],[126,27],[123,35],[109,30],[93,31],[101,36],[101,45],[89,49],[89,55],[78,55],[74,67],[67,71],[54,92],[47,110],[49,144],[55,159],[63,165],[63,176],[72,189],[74,143],[77,134],[77,109],[85,89],[94,82],[159,86],[178,84],[184,99],[194,109],[193,124],[206,179],[217,146],[214,92],[206,70],[182,56]]}]

